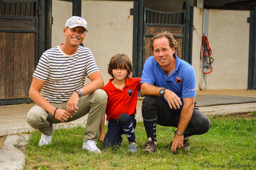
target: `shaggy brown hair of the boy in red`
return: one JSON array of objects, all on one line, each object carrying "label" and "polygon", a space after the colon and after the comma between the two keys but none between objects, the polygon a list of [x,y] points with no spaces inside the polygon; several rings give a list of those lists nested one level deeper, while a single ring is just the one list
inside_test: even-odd
[{"label": "shaggy brown hair of the boy in red", "polygon": [[122,67],[125,67],[127,70],[127,76],[126,78],[130,77],[130,74],[133,72],[133,66],[131,64],[131,61],[126,54],[116,54],[113,57],[111,57],[109,64],[109,68],[107,69],[107,72],[111,77],[114,78],[114,75],[112,74],[113,69],[122,69]]}]

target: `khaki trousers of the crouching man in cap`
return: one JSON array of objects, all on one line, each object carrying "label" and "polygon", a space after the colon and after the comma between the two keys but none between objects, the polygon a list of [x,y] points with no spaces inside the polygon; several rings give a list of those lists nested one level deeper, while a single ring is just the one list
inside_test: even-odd
[{"label": "khaki trousers of the crouching man in cap", "polygon": [[[105,113],[107,103],[107,94],[104,90],[97,89],[89,95],[80,97],[77,106],[79,107],[77,113],[72,115],[65,122],[71,122],[77,120],[88,113],[86,132],[84,134],[84,141],[88,140],[96,141],[99,132],[99,126],[101,124],[103,113]],[[51,103],[54,107],[65,109],[67,101],[63,103]],[[53,115],[45,111],[42,107],[35,105],[27,113],[26,121],[35,129],[38,129],[45,135],[53,134],[53,128],[51,124],[58,124],[61,121],[53,118]]]}]

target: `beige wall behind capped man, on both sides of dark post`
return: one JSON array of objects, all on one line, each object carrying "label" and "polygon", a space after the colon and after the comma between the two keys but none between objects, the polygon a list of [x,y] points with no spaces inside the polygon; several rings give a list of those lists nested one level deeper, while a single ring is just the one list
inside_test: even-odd
[{"label": "beige wall behind capped man, on both sides of dark post", "polygon": [[[105,84],[111,78],[107,64],[112,56],[125,53],[132,61],[133,15],[130,15],[130,8],[133,8],[133,1],[82,0],[81,16],[87,21],[89,31],[83,44],[91,49]],[[64,11],[66,14],[62,15]],[[71,16],[72,3],[53,0],[52,46],[65,41],[62,29]]]}]

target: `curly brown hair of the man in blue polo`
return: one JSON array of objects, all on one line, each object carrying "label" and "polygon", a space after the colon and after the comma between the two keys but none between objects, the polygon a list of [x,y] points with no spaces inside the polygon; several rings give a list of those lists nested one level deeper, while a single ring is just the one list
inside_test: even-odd
[{"label": "curly brown hair of the man in blue polo", "polygon": [[157,33],[156,35],[154,35],[154,37],[152,37],[149,41],[149,49],[151,51],[154,51],[153,43],[154,43],[155,39],[159,39],[159,38],[162,38],[162,37],[165,37],[165,38],[167,38],[167,40],[169,40],[170,47],[171,48],[174,47],[174,49],[175,49],[174,54],[177,54],[176,48],[177,48],[178,43],[177,43],[176,40],[174,40],[173,35],[168,31],[161,31],[161,32]]}]

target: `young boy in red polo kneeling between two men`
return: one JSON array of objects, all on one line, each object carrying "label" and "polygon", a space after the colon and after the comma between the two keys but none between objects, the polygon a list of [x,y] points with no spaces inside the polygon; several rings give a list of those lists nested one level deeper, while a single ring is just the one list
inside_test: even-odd
[{"label": "young boy in red polo kneeling between two men", "polygon": [[120,146],[122,134],[125,134],[128,141],[128,152],[134,154],[138,151],[135,142],[134,129],[136,127],[136,105],[138,91],[141,89],[141,78],[130,78],[133,71],[132,64],[126,54],[117,54],[111,57],[108,73],[113,77],[109,80],[103,90],[106,91],[107,105],[106,115],[108,131],[105,135],[104,123],[105,114],[102,117],[98,140],[105,148]]}]

